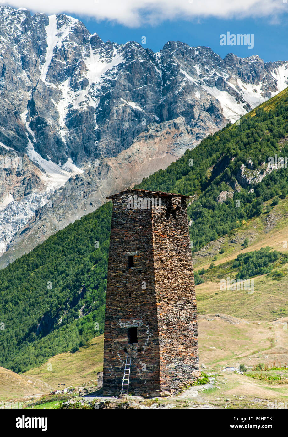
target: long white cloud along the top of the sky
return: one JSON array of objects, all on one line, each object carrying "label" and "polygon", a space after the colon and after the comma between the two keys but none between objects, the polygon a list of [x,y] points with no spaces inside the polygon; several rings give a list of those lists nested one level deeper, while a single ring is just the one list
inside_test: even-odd
[{"label": "long white cloud along the top of the sky", "polygon": [[167,19],[275,17],[288,10],[283,0],[15,0],[9,5],[46,14],[80,14],[130,27]]}]

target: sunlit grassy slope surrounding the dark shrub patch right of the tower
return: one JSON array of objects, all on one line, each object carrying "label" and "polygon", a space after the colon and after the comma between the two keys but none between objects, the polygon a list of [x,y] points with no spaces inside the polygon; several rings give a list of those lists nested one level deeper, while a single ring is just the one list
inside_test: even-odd
[{"label": "sunlit grassy slope surrounding the dark shrub patch right of the tower", "polygon": [[[271,203],[271,201],[265,203]],[[252,295],[249,295],[247,291],[221,291],[220,279],[217,278],[219,266],[234,260],[240,253],[259,250],[266,246],[287,253],[285,241],[288,242],[288,199],[280,200],[269,216],[278,218],[269,232],[265,232],[269,218],[264,212],[248,220],[241,228],[209,243],[193,254],[195,271],[201,268],[208,269],[213,257],[217,255],[217,260],[213,261],[216,267],[212,270],[209,280],[196,286],[199,314],[219,311],[248,320],[273,320],[276,317],[288,316],[288,275],[282,277],[280,281],[273,280],[270,275],[254,277]],[[242,243],[246,237],[251,241],[249,246],[243,249]],[[231,239],[237,240],[237,243],[231,243]],[[225,252],[220,254],[219,250],[222,247]],[[285,274],[288,272],[287,268],[288,265],[280,267]],[[227,276],[233,278],[231,274]]]}]

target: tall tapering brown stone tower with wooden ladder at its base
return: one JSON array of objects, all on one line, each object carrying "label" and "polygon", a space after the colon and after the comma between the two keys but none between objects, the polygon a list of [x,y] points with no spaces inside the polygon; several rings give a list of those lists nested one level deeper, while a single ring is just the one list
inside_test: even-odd
[{"label": "tall tapering brown stone tower with wooden ladder at its base", "polygon": [[177,389],[200,375],[189,196],[127,189],[113,201],[103,393]]}]

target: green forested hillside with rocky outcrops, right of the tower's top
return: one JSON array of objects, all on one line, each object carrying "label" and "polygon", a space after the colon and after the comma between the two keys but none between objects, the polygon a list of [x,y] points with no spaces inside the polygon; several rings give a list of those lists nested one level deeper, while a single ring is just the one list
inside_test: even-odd
[{"label": "green forested hillside with rocky outcrops, right of the tower's top", "polygon": [[216,201],[222,191],[233,192],[242,164],[247,166],[252,160],[254,171],[258,168],[263,173],[269,156],[288,156],[288,141],[279,145],[279,140],[288,135],[288,89],[282,91],[280,101],[279,96],[274,99],[278,101],[276,107],[271,105],[273,99],[267,103],[269,111],[262,104],[255,116],[248,114],[241,118],[240,125],[228,124],[221,132],[209,135],[166,170],[154,173],[139,185],[149,190],[197,194],[188,208],[193,220],[194,251],[261,213],[263,201],[287,195],[288,169],[281,168],[264,177],[253,193],[249,193],[250,186],[238,187],[240,192],[234,192],[233,199]]}]

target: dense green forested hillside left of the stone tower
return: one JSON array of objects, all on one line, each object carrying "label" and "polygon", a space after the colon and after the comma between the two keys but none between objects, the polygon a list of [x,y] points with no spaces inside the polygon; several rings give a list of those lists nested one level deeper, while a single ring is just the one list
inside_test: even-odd
[{"label": "dense green forested hillside left of the stone tower", "polygon": [[0,271],[2,367],[25,371],[103,333],[111,209],[103,205]]}]

